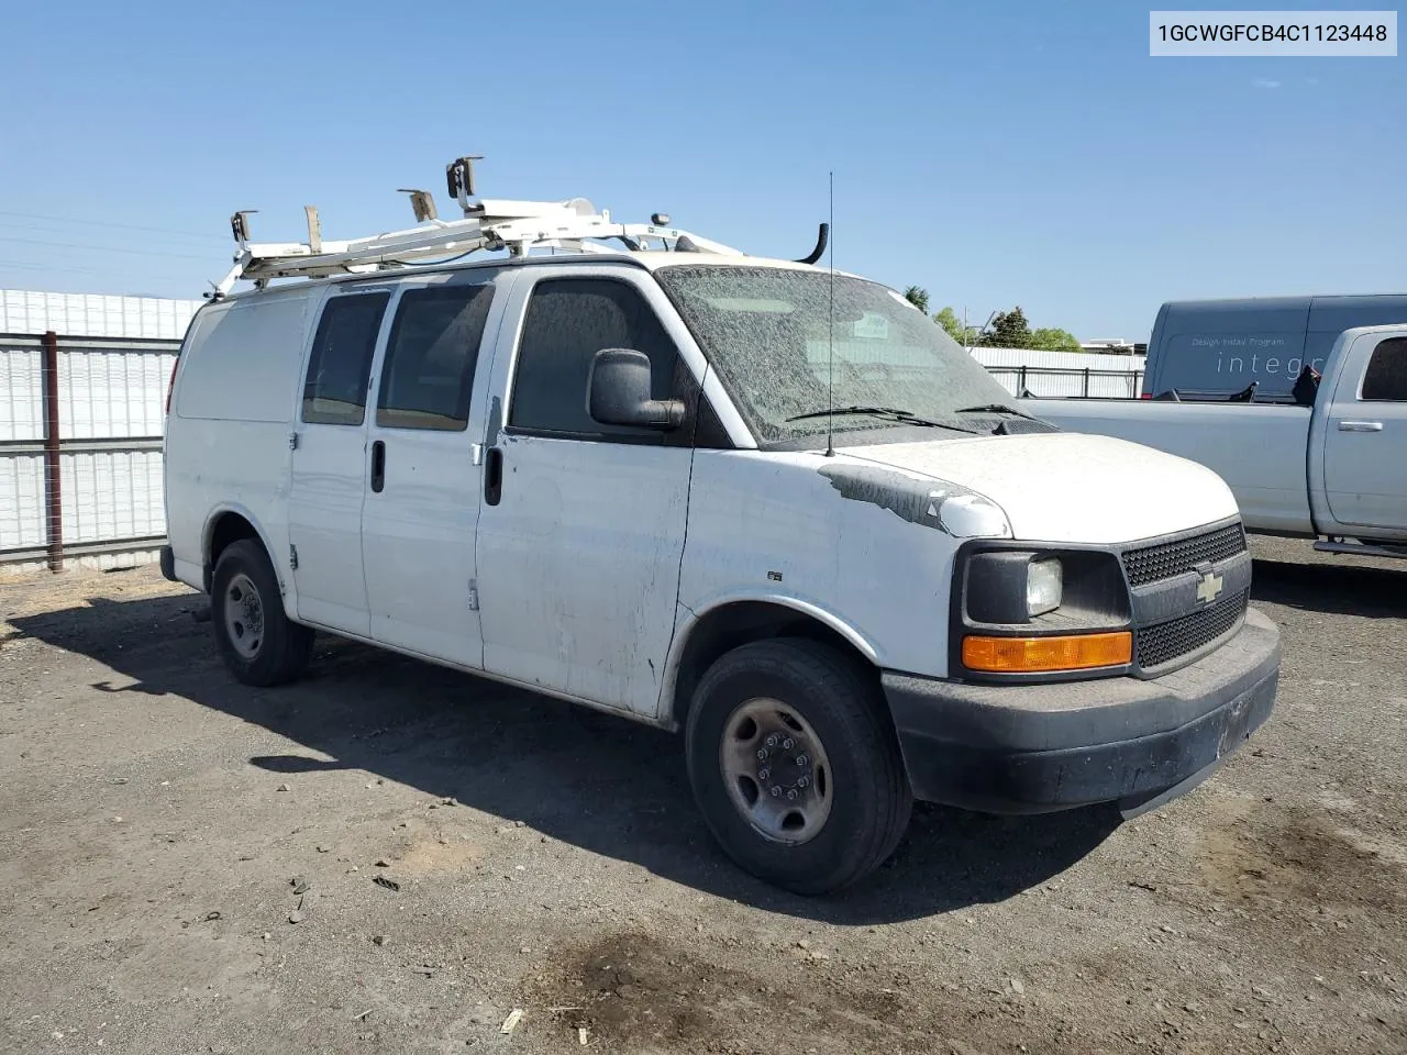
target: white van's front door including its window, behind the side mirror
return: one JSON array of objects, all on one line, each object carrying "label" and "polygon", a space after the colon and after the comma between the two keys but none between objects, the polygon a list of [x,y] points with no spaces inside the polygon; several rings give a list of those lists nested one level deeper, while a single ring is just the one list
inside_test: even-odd
[{"label": "white van's front door including its window, behind the side mirror", "polygon": [[643,274],[519,273],[516,352],[494,360],[495,411],[508,412],[501,428],[490,412],[478,585],[488,672],[653,716],[680,589],[688,429],[605,426],[587,414],[602,349],[649,356],[656,398],[691,369],[657,314],[664,294]]}]

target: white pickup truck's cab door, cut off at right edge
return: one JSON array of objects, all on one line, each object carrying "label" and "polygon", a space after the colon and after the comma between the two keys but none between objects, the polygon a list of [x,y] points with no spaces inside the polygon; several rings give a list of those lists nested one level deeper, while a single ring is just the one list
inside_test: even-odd
[{"label": "white pickup truck's cab door, cut off at right edge", "polygon": [[1324,421],[1324,491],[1334,519],[1407,535],[1407,329],[1361,333]]}]

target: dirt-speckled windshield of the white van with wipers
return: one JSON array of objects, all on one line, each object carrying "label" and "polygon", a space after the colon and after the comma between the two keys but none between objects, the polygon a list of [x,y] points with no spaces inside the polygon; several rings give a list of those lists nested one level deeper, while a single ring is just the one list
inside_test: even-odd
[{"label": "dirt-speckled windshield of the white van with wipers", "polygon": [[822,436],[827,421],[836,435],[886,425],[985,433],[991,423],[965,408],[1009,405],[941,326],[877,283],[837,274],[832,291],[825,271],[732,264],[657,277],[761,440]]}]

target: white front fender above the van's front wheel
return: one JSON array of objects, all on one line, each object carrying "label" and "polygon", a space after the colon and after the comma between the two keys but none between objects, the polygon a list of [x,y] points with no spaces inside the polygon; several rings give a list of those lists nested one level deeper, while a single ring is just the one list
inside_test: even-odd
[{"label": "white front fender above the van's front wheel", "polygon": [[826,464],[820,452],[695,452],[675,656],[696,616],[765,601],[820,618],[879,667],[947,674],[957,542],[844,498]]}]

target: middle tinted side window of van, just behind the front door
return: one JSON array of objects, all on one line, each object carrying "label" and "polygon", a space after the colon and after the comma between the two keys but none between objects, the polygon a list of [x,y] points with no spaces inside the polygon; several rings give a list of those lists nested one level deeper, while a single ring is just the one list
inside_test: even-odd
[{"label": "middle tinted side window of van, just behind the front door", "polygon": [[469,426],[474,364],[492,298],[490,284],[401,294],[381,367],[377,425],[450,432]]}]

